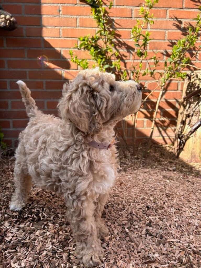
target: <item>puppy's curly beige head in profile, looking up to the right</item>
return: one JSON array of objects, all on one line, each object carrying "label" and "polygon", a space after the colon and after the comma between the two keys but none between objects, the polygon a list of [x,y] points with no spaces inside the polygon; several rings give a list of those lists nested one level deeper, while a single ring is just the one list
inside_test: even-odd
[{"label": "puppy's curly beige head in profile, looking up to the right", "polygon": [[141,87],[135,81],[115,81],[111,73],[98,68],[79,72],[65,83],[58,104],[64,120],[70,120],[84,133],[98,133],[104,125],[118,121],[139,110]]}]

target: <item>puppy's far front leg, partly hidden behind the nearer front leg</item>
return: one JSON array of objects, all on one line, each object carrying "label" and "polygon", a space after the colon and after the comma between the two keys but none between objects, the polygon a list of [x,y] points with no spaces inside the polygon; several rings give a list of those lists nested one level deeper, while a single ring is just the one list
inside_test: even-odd
[{"label": "puppy's far front leg, partly hidden behind the nearer front leg", "polygon": [[101,218],[105,203],[107,202],[107,199],[108,199],[108,193],[101,194],[101,195],[99,195],[98,200],[95,203],[96,208],[94,211],[94,217],[95,217],[95,221],[96,221],[98,235],[100,235],[101,237],[104,237],[109,233],[107,226],[105,225],[104,220]]}]

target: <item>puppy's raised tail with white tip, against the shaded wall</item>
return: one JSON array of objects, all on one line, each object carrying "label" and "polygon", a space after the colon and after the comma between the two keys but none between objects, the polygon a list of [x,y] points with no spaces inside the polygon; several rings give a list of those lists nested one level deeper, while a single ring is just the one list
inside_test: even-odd
[{"label": "puppy's raised tail with white tip, against the shaded wall", "polygon": [[17,84],[19,86],[22,101],[24,102],[28,117],[35,117],[38,113],[38,107],[36,106],[34,99],[31,97],[31,91],[23,81],[19,80],[17,81]]}]

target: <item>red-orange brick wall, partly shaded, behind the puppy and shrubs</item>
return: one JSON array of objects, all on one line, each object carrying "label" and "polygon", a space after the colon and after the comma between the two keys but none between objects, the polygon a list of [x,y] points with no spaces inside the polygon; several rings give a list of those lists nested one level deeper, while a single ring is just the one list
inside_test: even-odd
[{"label": "red-orange brick wall, partly shaded, behind the puppy and shrubs", "polygon": [[[143,0],[114,0],[114,6],[110,10],[110,16],[118,30],[117,41],[120,42],[120,36],[122,39],[119,49],[123,66],[131,66],[134,45],[130,39],[131,28],[136,23],[142,2]],[[164,50],[171,51],[172,41],[182,36],[174,17],[179,19],[181,26],[193,23],[199,2],[159,0],[152,10],[155,19],[150,32],[151,38],[155,40],[150,42],[149,53],[152,55],[152,50],[158,50],[159,70],[163,69]],[[45,113],[57,114],[56,106],[62,84],[78,72],[76,64],[69,61],[69,49],[77,44],[77,37],[94,34],[96,24],[90,16],[90,7],[79,0],[10,0],[3,1],[2,5],[18,21],[18,29],[12,32],[1,30],[0,37],[0,126],[5,141],[14,146],[18,134],[28,122],[16,81],[21,79],[27,83],[40,109]],[[47,66],[37,60],[43,55],[49,61]],[[82,51],[77,51],[77,55],[79,58],[90,58]],[[201,55],[195,60],[198,67],[201,65],[200,59]],[[137,58],[134,64],[138,64]],[[144,84],[150,82],[149,77],[143,79]],[[150,90],[155,87],[154,81],[148,84]],[[158,142],[172,142],[182,87],[183,82],[174,81],[169,84],[168,92],[163,96],[154,133],[154,139]],[[158,91],[154,92],[139,112],[136,132],[139,139],[150,133],[150,116],[158,94]],[[131,142],[132,120],[127,119],[127,136]],[[121,128],[120,124],[118,126]]]}]

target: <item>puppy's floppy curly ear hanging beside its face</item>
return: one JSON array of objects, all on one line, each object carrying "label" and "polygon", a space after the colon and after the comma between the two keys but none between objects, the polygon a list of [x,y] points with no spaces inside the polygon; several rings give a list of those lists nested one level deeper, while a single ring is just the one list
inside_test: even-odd
[{"label": "puppy's floppy curly ear hanging beside its face", "polygon": [[62,93],[58,104],[62,119],[70,120],[84,133],[101,129],[99,94],[92,90],[87,80],[78,75],[71,83],[64,84]]}]

